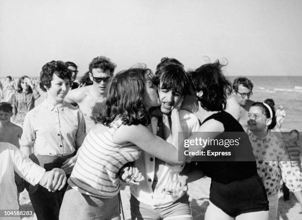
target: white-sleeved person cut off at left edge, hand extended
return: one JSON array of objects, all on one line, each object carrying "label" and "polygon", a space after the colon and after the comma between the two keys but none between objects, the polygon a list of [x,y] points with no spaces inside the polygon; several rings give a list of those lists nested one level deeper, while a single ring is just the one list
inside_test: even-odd
[{"label": "white-sleeved person cut off at left edge, hand extended", "polygon": [[[61,190],[66,183],[66,175],[62,169],[54,168],[45,172],[45,169],[35,164],[17,147],[0,142],[0,219],[20,220],[17,202],[17,188],[14,182],[14,171],[27,182],[48,189]],[[16,212],[5,212],[16,211]],[[22,215],[22,214],[21,214]],[[30,212],[24,215],[32,215]]]}]

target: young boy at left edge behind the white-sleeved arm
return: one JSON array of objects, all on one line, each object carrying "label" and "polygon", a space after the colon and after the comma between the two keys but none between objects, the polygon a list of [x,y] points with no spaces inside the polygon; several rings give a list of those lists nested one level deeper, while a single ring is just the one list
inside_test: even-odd
[{"label": "young boy at left edge behind the white-sleeved arm", "polygon": [[[10,143],[20,148],[19,139],[22,135],[22,128],[10,122],[12,115],[12,106],[7,102],[0,103],[0,142]],[[19,193],[24,190],[24,183],[23,179],[16,173],[15,183],[18,189],[19,202]]]}]

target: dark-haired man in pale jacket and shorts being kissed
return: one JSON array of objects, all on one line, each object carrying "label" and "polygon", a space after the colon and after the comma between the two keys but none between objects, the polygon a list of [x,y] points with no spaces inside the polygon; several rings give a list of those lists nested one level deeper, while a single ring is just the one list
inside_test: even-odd
[{"label": "dark-haired man in pale jacket and shorts being kissed", "polygon": [[[178,132],[171,129],[173,127],[170,119],[171,111],[189,92],[189,79],[183,67],[175,62],[158,65],[155,76],[158,79],[162,116],[152,118],[151,124],[154,134],[157,132],[157,136],[169,142],[171,132]],[[180,110],[180,118],[186,137],[198,130],[199,121],[194,114],[187,110]],[[143,151],[134,166],[142,172],[145,181],[138,186],[130,185],[132,220],[192,219],[189,197],[186,192],[179,196],[162,192],[163,186],[178,179],[183,165],[170,165]]]}]

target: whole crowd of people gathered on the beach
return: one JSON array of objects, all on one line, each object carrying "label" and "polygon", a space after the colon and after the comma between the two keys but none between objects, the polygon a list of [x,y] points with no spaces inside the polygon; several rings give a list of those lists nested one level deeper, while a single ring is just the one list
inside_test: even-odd
[{"label": "whole crowd of people gathered on the beach", "polygon": [[[187,183],[207,176],[205,220],[276,220],[281,180],[302,212],[299,132],[288,140],[272,132],[283,108],[250,100],[251,80],[231,84],[223,67],[217,61],[186,72],[164,57],[154,73],[140,64],[113,74],[116,65],[99,56],[77,83],[75,63],[51,61],[40,72],[46,98],[36,107],[38,81],[22,76],[16,86],[7,76],[0,209],[18,210],[26,188],[38,220],[119,220],[123,182],[131,219],[192,220]],[[184,147],[235,136],[238,145]],[[223,153],[201,156],[208,151]]]}]

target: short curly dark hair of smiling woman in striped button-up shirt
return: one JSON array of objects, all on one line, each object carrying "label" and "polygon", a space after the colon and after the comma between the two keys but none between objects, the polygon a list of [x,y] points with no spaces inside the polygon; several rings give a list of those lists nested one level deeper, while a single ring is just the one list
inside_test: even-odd
[{"label": "short curly dark hair of smiling woman in striped button-up shirt", "polygon": [[[40,72],[40,88],[46,92],[45,87],[50,88],[52,75],[56,74],[61,79],[69,79],[71,84],[72,72],[66,67],[63,61],[51,61],[42,67]],[[45,87],[44,87],[45,86]]]}]

